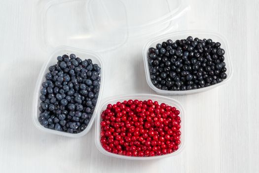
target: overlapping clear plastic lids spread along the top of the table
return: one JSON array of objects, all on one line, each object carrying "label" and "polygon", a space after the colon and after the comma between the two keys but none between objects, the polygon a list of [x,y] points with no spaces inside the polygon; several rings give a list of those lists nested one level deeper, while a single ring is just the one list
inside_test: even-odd
[{"label": "overlapping clear plastic lids spread along the top of the table", "polygon": [[172,21],[184,9],[182,0],[49,0],[42,5],[40,26],[48,48],[66,45],[105,51],[128,38],[175,27]]}]

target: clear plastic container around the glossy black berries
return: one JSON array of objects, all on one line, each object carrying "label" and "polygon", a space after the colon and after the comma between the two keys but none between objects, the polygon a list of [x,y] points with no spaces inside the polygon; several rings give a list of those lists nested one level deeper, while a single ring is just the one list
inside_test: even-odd
[{"label": "clear plastic container around the glossy black berries", "polygon": [[[148,68],[148,48],[149,47],[155,47],[157,43],[162,43],[164,41],[167,41],[168,39],[171,39],[173,42],[176,40],[186,39],[188,36],[192,36],[193,38],[197,37],[199,39],[212,39],[213,42],[220,42],[221,47],[225,50],[225,64],[226,64],[226,75],[227,78],[223,80],[221,83],[218,83],[216,85],[212,85],[210,87],[203,87],[199,89],[193,89],[193,90],[185,90],[185,91],[169,91],[169,90],[162,90],[157,87],[155,87],[150,79],[150,73]],[[231,62],[231,56],[230,51],[228,48],[228,43],[226,39],[216,32],[207,32],[207,31],[198,31],[198,30],[190,30],[190,31],[182,31],[182,32],[175,32],[171,34],[161,35],[159,37],[150,39],[143,47],[143,58],[144,58],[144,65],[145,65],[145,72],[146,72],[146,79],[148,82],[148,86],[151,87],[156,93],[162,94],[162,95],[183,95],[183,94],[194,94],[198,92],[207,91],[209,89],[212,89],[214,87],[221,86],[225,83],[227,83],[232,75],[233,75],[233,67]]]}]

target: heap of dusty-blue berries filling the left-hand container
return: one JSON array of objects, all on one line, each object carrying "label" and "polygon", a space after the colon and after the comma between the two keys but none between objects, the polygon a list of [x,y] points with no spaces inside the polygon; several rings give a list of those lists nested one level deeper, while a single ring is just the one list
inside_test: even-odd
[{"label": "heap of dusty-blue berries filling the left-hand container", "polygon": [[74,54],[57,57],[40,89],[39,122],[48,129],[79,133],[92,117],[98,99],[101,68]]}]

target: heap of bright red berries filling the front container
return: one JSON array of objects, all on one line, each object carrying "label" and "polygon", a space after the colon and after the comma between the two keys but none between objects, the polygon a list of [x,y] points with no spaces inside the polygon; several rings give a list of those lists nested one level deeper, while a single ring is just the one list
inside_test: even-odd
[{"label": "heap of bright red berries filling the front container", "polygon": [[148,157],[170,154],[181,144],[176,107],[152,100],[108,104],[101,118],[101,144],[111,153]]}]

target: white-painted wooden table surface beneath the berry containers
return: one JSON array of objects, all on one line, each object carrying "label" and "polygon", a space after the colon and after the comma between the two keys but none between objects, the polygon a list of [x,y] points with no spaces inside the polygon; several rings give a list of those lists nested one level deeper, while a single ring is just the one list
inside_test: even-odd
[{"label": "white-painted wooden table surface beneath the berry containers", "polygon": [[[101,154],[94,127],[78,139],[35,128],[33,91],[48,58],[38,43],[37,3],[0,1],[0,173],[259,172],[259,0],[186,1],[191,9],[178,30],[222,33],[230,44],[234,75],[222,87],[174,96],[186,110],[185,148],[175,157],[145,162]],[[112,76],[105,81],[103,97],[154,93],[145,79],[141,47],[136,46],[126,43],[103,54],[109,56],[104,60],[106,76]],[[131,59],[124,63],[127,57],[118,58],[118,53]]]}]

